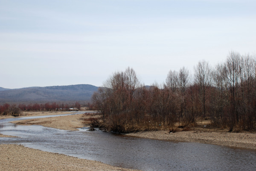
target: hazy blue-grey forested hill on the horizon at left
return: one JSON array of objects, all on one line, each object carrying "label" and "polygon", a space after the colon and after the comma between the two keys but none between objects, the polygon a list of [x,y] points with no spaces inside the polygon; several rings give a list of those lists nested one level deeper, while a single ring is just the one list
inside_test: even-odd
[{"label": "hazy blue-grey forested hill on the horizon at left", "polygon": [[1,89],[0,103],[90,100],[98,87],[88,84]]}]

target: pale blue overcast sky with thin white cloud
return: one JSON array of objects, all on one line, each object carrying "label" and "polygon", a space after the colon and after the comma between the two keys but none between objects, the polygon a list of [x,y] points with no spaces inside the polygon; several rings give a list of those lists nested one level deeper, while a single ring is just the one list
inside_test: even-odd
[{"label": "pale blue overcast sky with thin white cloud", "polygon": [[142,83],[255,54],[255,0],[0,0],[0,87]]}]

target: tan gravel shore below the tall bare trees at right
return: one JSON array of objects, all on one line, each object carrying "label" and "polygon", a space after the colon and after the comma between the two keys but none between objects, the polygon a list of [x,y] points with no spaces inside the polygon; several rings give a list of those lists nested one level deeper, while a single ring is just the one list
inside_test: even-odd
[{"label": "tan gravel shore below the tall bare trees at right", "polygon": [[181,131],[169,133],[169,131],[142,131],[129,133],[127,136],[151,138],[157,140],[171,140],[183,142],[199,142],[215,145],[225,145],[236,148],[256,150],[255,133],[230,133],[230,132],[198,132]]}]

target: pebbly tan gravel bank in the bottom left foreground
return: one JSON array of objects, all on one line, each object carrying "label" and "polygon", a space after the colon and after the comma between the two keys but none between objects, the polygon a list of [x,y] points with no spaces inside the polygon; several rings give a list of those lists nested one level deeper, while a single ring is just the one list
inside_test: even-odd
[{"label": "pebbly tan gravel bank in the bottom left foreground", "polygon": [[128,171],[98,161],[49,153],[23,145],[0,144],[0,170],[12,171]]}]

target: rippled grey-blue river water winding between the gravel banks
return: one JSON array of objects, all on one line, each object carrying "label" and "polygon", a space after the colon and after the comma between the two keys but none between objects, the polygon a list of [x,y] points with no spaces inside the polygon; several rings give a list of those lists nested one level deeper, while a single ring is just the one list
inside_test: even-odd
[{"label": "rippled grey-blue river water winding between the gravel banks", "polygon": [[0,133],[20,138],[0,138],[0,143],[22,144],[141,170],[256,170],[256,151],[252,150],[125,137],[85,129],[64,131],[40,125],[8,123],[12,120],[20,118],[0,120]]}]

